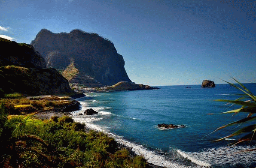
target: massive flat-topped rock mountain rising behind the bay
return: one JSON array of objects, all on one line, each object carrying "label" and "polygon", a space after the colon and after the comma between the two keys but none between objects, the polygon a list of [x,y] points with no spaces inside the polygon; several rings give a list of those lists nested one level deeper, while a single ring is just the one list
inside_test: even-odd
[{"label": "massive flat-topped rock mountain rising behind the bay", "polygon": [[[113,43],[96,33],[73,30],[52,33],[41,30],[31,45],[45,58],[47,67],[65,69],[70,82],[102,86],[131,80],[125,71],[122,55]],[[77,69],[76,73],[69,71]]]}]

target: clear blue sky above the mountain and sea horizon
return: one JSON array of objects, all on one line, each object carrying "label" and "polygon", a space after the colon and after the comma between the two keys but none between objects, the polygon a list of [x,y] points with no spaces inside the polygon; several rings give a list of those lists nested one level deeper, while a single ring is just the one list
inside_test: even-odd
[{"label": "clear blue sky above the mountain and sea horizon", "polygon": [[253,0],[0,0],[0,37],[30,44],[43,28],[109,39],[137,84],[256,83]]}]

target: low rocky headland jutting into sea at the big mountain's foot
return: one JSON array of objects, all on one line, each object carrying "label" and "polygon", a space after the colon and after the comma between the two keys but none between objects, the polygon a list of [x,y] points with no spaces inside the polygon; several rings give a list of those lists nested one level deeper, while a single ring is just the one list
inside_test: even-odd
[{"label": "low rocky headland jutting into sea at the big mountain's foot", "polygon": [[105,90],[115,90],[115,91],[123,91],[123,90],[153,90],[159,89],[157,87],[150,87],[149,85],[143,84],[135,84],[134,82],[121,81],[113,86],[105,88]]}]

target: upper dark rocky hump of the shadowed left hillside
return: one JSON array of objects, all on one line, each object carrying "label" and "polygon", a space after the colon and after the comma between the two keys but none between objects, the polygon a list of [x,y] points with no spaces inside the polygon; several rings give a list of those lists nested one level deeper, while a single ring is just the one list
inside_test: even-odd
[{"label": "upper dark rocky hump of the shadowed left hillside", "polygon": [[16,65],[26,68],[46,68],[43,57],[32,45],[0,38],[0,66]]}]

